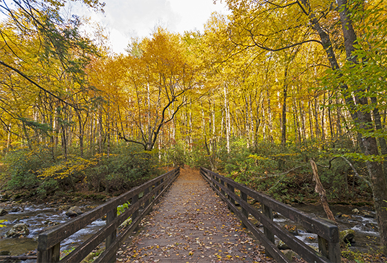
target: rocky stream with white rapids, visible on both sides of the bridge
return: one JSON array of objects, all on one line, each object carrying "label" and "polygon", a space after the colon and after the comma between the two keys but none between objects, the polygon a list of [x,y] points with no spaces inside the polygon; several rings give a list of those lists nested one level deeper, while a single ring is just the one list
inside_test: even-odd
[{"label": "rocky stream with white rapids, visible on both sides of the bridge", "polygon": [[[101,202],[84,201],[77,206],[81,208],[82,212],[87,212],[100,205]],[[22,255],[33,251],[37,248],[37,237],[44,232],[46,228],[53,227],[57,224],[63,224],[70,220],[66,216],[66,211],[70,207],[68,203],[0,203],[0,208],[8,211],[7,215],[0,217],[0,220],[7,221],[1,223],[5,226],[0,228],[0,252],[9,251],[10,255]],[[292,204],[292,207],[302,210],[311,216],[325,217],[325,212],[322,206],[314,205],[299,205]],[[379,244],[379,233],[377,232],[377,222],[375,219],[375,212],[368,207],[355,206],[330,206],[334,215],[341,215],[337,217],[340,230],[353,229],[355,230],[355,244],[350,246],[353,251],[360,251],[362,253],[376,251]],[[356,210],[355,210],[356,209]],[[281,226],[286,224],[295,225],[293,221],[277,214],[274,221]],[[10,228],[18,223],[25,223],[28,225],[30,234],[21,238],[6,238],[4,235]],[[97,219],[93,223],[86,226],[77,233],[71,235],[61,242],[61,251],[68,251],[73,247],[82,244],[86,239],[91,237],[93,233],[105,226],[106,222],[102,219]],[[297,238],[301,239],[305,244],[318,247],[317,235],[308,233],[301,226],[298,228],[299,235]],[[31,261],[32,262],[32,261]]]}]

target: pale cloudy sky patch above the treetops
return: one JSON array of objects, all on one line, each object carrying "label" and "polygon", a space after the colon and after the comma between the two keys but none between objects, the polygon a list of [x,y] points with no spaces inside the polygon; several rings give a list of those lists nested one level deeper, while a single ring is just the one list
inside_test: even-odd
[{"label": "pale cloudy sky patch above the treetops", "polygon": [[228,14],[225,3],[213,0],[105,0],[104,13],[79,2],[70,2],[66,12],[90,17],[106,28],[113,52],[124,53],[131,37],[149,37],[156,26],[169,32],[203,32],[212,12]]}]

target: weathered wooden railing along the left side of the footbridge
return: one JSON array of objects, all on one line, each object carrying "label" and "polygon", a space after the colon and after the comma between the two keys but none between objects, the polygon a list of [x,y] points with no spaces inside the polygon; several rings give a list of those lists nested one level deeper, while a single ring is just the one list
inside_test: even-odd
[{"label": "weathered wooden railing along the left side of the footbridge", "polygon": [[[120,244],[138,227],[138,224],[149,213],[155,201],[167,190],[179,174],[179,168],[171,170],[52,230],[41,233],[38,238],[37,263],[81,262],[84,257],[104,241],[106,241],[106,249],[94,262],[115,262],[116,252],[120,248]],[[117,216],[117,206],[127,201],[130,201],[130,205]],[[59,261],[60,242],[105,215],[106,226]],[[129,217],[131,217],[131,224],[117,235],[117,228]]]}]

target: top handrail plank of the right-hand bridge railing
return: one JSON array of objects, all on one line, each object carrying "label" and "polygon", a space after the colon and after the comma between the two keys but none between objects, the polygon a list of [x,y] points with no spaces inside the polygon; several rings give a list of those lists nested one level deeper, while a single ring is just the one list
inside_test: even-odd
[{"label": "top handrail plank of the right-hand bridge railing", "polygon": [[[203,168],[203,170],[211,174],[216,174],[205,168]],[[216,174],[216,176],[218,176],[220,179],[223,179],[226,183],[234,185],[234,187],[238,190],[246,192],[246,194],[261,202],[262,204],[270,206],[272,210],[279,212],[284,217],[291,219],[292,221],[296,222],[296,224],[303,226],[303,228],[309,230],[310,232],[316,233],[317,235],[327,239],[328,242],[339,242],[339,228],[336,225],[330,224],[329,222],[317,217],[310,217],[310,215],[307,215],[304,212],[297,210],[296,208],[292,208],[285,203],[281,203],[280,201],[273,199],[267,194],[256,192],[255,190],[247,188],[246,185],[236,183],[232,179],[229,179],[225,176],[221,176],[220,174]]]}]

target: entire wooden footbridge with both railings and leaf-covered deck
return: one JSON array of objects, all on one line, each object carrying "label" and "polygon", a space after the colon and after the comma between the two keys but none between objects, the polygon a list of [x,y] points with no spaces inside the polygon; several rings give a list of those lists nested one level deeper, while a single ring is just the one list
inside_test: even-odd
[{"label": "entire wooden footbridge with both railings and leaf-covered deck", "polygon": [[[200,174],[202,179],[199,175],[185,177],[185,172],[180,174],[179,168],[171,170],[40,234],[37,262],[82,262],[101,244],[105,245],[105,250],[94,262],[273,262],[273,259],[276,262],[292,262],[274,244],[274,236],[306,262],[340,262],[339,230],[336,225],[310,217],[203,167],[200,168]],[[170,197],[162,197],[163,194]],[[164,207],[154,208],[148,215],[160,197],[165,199],[158,206]],[[250,205],[252,200],[261,204],[262,211]],[[117,216],[117,207],[127,202],[130,203],[128,208]],[[227,211],[226,207],[234,215],[224,212]],[[219,214],[222,211],[224,215]],[[276,224],[273,221],[274,211],[310,233],[317,234],[318,251]],[[60,243],[64,239],[105,216],[106,226],[59,260]],[[120,228],[129,217],[131,224]],[[153,225],[149,224],[151,219],[147,217],[153,218]],[[221,217],[221,220],[217,217]],[[253,223],[254,219],[263,225],[263,231]],[[233,220],[242,221],[244,228],[238,229],[238,226],[229,224]],[[138,230],[139,224],[143,235],[130,236]],[[255,245],[243,233],[245,228],[249,230],[249,235],[258,239],[253,241]],[[265,252],[260,252],[259,247],[263,246]]]}]

